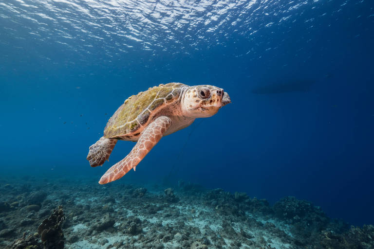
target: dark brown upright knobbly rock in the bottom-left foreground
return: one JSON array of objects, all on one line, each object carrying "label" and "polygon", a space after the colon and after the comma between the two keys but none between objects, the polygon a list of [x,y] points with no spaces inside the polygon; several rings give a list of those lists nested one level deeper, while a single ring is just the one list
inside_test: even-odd
[{"label": "dark brown upright knobbly rock in the bottom-left foreground", "polygon": [[37,228],[41,241],[45,249],[63,249],[65,244],[64,234],[62,232],[62,224],[65,215],[62,207],[59,206],[52,211],[49,218],[46,218]]}]

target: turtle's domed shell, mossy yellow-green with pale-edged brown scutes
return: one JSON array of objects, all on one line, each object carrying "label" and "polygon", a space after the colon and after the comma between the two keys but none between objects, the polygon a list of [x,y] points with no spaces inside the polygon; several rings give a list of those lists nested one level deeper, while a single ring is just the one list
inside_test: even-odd
[{"label": "turtle's domed shell, mossy yellow-green with pale-edged brown scutes", "polygon": [[159,85],[130,96],[109,119],[104,129],[105,138],[131,139],[132,134],[147,126],[158,110],[176,102],[182,83]]}]

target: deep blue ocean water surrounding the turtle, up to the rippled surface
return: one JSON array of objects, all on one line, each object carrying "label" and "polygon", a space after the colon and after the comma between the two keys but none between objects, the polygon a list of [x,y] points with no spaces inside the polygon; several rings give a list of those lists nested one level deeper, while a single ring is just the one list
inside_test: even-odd
[{"label": "deep blue ocean water surrounding the turtle, up to the rippled surface", "polygon": [[88,147],[132,94],[211,84],[232,103],[121,181],[179,179],[374,223],[371,0],[0,2],[2,176],[99,180]]}]

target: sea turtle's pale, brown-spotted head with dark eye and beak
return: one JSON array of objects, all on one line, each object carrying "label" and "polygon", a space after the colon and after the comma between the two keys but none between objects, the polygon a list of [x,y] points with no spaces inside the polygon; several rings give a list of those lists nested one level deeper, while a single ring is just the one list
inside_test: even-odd
[{"label": "sea turtle's pale, brown-spotted head with dark eye and beak", "polygon": [[193,118],[211,117],[231,103],[224,89],[209,85],[189,87],[182,96],[181,108],[184,115]]}]

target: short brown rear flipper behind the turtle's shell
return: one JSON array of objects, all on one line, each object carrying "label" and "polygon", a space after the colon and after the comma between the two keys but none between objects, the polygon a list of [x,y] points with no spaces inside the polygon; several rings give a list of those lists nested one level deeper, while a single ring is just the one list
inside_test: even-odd
[{"label": "short brown rear flipper behind the turtle's shell", "polygon": [[91,145],[87,156],[91,167],[103,165],[105,160],[109,159],[116,143],[116,139],[101,137],[97,142]]}]

